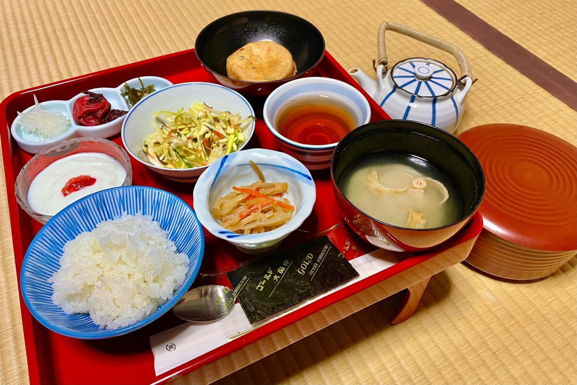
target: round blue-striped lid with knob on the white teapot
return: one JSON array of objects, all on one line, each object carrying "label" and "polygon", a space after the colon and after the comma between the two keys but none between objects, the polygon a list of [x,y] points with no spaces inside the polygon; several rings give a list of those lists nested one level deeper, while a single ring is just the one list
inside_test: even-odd
[{"label": "round blue-striped lid with knob on the white teapot", "polygon": [[414,57],[399,61],[391,70],[396,87],[423,98],[451,93],[457,84],[455,72],[433,59]]}]

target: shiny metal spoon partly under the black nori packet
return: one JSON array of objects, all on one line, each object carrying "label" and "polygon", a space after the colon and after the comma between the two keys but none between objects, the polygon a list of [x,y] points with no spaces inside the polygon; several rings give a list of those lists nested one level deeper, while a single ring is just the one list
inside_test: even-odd
[{"label": "shiny metal spoon partly under the black nori packet", "polygon": [[236,297],[226,286],[206,285],[187,291],[173,307],[175,316],[190,322],[212,322],[228,316]]}]

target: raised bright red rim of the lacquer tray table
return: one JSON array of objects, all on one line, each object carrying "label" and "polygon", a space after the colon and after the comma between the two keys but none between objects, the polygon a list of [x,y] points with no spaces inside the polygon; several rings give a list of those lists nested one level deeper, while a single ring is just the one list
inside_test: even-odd
[{"label": "raised bright red rim of the lacquer tray table", "polygon": [[[50,88],[60,86],[61,84],[76,82],[77,80],[87,79],[88,77],[103,75],[105,73],[121,71],[130,68],[136,68],[140,65],[149,64],[151,62],[166,60],[170,57],[178,57],[179,55],[185,55],[193,53],[194,49],[178,51],[175,53],[170,53],[166,55],[160,55],[158,57],[148,58],[145,60],[132,62],[125,65],[115,66],[113,68],[103,69],[102,71],[96,71],[92,73],[88,73],[85,75],[80,75],[76,77],[70,77],[69,79],[59,80],[53,83],[43,84],[42,86],[36,86],[27,88],[25,90],[13,92],[8,97],[6,97],[0,103],[0,122],[4,122],[8,128],[8,121],[6,121],[6,105],[10,103],[13,99],[19,97],[20,95],[27,94],[29,92],[41,90],[43,88]],[[383,119],[390,119],[387,114],[380,108],[380,106],[354,81],[354,79],[349,75],[349,73],[330,55],[327,51],[325,51],[325,57],[331,62],[332,65],[338,69],[338,71],[349,80],[349,83],[357,88],[369,101],[371,108],[373,110],[377,110]],[[39,373],[39,363],[38,363],[38,354],[36,350],[36,342],[35,342],[35,331],[33,327],[33,317],[32,314],[28,311],[22,295],[20,294],[20,277],[17,274],[18,269],[21,268],[22,259],[24,256],[24,247],[23,247],[23,240],[20,236],[20,217],[18,216],[18,203],[16,202],[16,197],[14,195],[14,177],[13,177],[13,166],[12,166],[12,148],[11,148],[11,138],[9,134],[9,129],[6,131],[0,132],[0,144],[2,146],[2,159],[4,165],[4,174],[6,180],[6,193],[8,195],[8,210],[10,216],[10,228],[12,231],[12,240],[13,240],[13,249],[14,249],[14,258],[16,264],[16,275],[17,275],[17,283],[18,283],[18,297],[20,298],[20,313],[23,321],[23,331],[24,331],[24,342],[25,342],[25,350],[27,354],[27,364],[28,364],[28,373],[29,379],[31,383],[40,383],[40,373]],[[6,151],[6,149],[9,149]],[[402,272],[408,268],[411,268],[429,258],[449,249],[452,246],[455,246],[458,243],[466,242],[472,238],[478,236],[482,229],[482,217],[481,214],[476,213],[473,216],[470,224],[468,225],[467,229],[460,232],[456,238],[452,239],[452,242],[441,246],[439,249],[435,249],[434,251],[429,251],[425,253],[418,254],[416,256],[407,258],[406,260],[400,261],[398,264],[391,266],[384,271],[380,271],[374,275],[366,277],[359,282],[351,284],[350,286],[343,287],[341,290],[336,291],[335,293],[329,294],[326,297],[320,298],[309,305],[304,306],[298,310],[295,310],[292,313],[287,314],[286,316],[281,317],[275,321],[267,325],[263,325],[263,327],[257,328],[256,330],[250,331],[247,334],[228,342],[226,345],[221,346],[213,351],[209,351],[208,353],[203,354],[203,356],[197,357],[194,360],[190,360],[185,362],[182,365],[179,365],[176,368],[171,369],[170,371],[164,372],[158,376],[155,376],[155,382],[153,383],[165,383],[170,380],[172,377],[177,375],[183,375],[194,369],[200,368],[201,366],[208,364],[209,362],[215,361],[220,357],[226,356],[227,354],[232,353],[235,350],[241,349],[242,347],[249,345],[252,342],[255,342],[258,339],[263,338],[266,335],[272,334],[275,331],[280,330],[283,327],[286,327],[289,324],[292,324],[304,317],[309,316],[310,314],[317,312],[325,308],[326,306],[331,305],[332,303],[338,302],[344,298],[350,297],[350,295],[356,294],[359,291],[365,290],[366,288],[376,284],[378,282],[387,279],[396,273]],[[17,258],[17,256],[21,256]]]}]

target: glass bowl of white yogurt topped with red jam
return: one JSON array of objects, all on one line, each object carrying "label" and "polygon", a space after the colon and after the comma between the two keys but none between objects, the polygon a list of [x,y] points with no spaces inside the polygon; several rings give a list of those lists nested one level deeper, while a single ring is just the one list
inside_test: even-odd
[{"label": "glass bowl of white yogurt topped with red jam", "polygon": [[96,191],[132,184],[126,151],[99,138],[64,140],[36,154],[18,173],[14,193],[29,216],[46,223]]}]

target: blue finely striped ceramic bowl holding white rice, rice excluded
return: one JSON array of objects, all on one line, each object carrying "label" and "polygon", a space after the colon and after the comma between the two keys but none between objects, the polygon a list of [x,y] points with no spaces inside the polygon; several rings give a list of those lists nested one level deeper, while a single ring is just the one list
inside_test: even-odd
[{"label": "blue finely striped ceramic bowl holding white rice, rice excluded", "polygon": [[[123,213],[151,216],[168,232],[177,251],[189,258],[185,281],[168,302],[132,325],[114,330],[100,329],[88,313],[65,314],[52,301],[53,288],[48,278],[60,268],[66,242],[96,224],[121,217]],[[158,319],[172,308],[188,290],[200,268],[204,253],[204,233],[193,210],[176,195],[145,186],[124,186],[99,191],[79,199],[56,214],[36,234],[24,256],[20,288],[26,306],[42,325],[51,331],[81,339],[114,337],[137,330]]]}]

